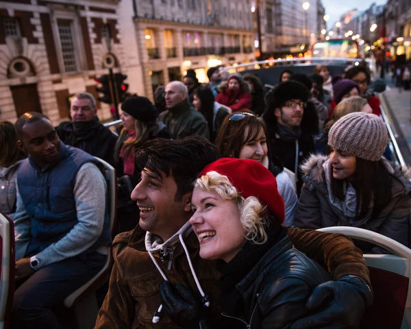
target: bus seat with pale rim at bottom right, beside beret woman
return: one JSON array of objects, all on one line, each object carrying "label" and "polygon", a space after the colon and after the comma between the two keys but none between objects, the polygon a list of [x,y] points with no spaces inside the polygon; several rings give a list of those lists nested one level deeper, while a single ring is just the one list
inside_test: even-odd
[{"label": "bus seat with pale rim at bottom right, beside beret woman", "polygon": [[319,231],[345,234],[392,253],[364,254],[370,271],[374,304],[366,310],[361,328],[411,328],[411,249],[387,236],[362,228],[333,226]]}]

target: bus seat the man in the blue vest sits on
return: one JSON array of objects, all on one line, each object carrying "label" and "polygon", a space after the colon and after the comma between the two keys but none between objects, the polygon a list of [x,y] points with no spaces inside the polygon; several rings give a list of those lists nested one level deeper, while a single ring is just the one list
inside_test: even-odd
[{"label": "bus seat the man in the blue vest sits on", "polygon": [[[104,160],[95,157],[104,167],[105,181],[107,182],[109,204],[108,211],[110,214],[110,232],[113,234],[114,224],[116,221],[116,172],[114,168]],[[102,283],[108,280],[110,271],[112,268],[112,248],[111,245],[108,250],[107,260],[103,268],[88,282],[79,287],[76,291],[73,291],[64,300],[64,306],[67,308],[75,307],[75,314],[77,317],[77,324],[79,329],[93,328],[97,313],[99,312],[99,306],[97,304],[97,298],[95,291],[100,287]]]}]

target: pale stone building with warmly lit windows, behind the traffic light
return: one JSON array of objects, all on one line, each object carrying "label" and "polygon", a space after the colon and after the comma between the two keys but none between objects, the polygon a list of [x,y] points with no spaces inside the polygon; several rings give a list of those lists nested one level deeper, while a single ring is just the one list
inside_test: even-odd
[{"label": "pale stone building with warmly lit windows, behind the traffic light", "polygon": [[180,80],[187,69],[207,82],[211,66],[255,60],[250,8],[250,0],[135,1],[140,92],[152,99],[156,86]]}]

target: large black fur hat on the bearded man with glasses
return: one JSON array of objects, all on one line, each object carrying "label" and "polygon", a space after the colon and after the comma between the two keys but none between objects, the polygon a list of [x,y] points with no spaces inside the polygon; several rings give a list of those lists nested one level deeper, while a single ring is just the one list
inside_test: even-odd
[{"label": "large black fur hat on the bearded man with glasses", "polygon": [[286,101],[290,99],[300,99],[301,101],[308,101],[310,91],[301,82],[288,80],[280,82],[267,95],[267,103],[269,108],[281,108]]}]

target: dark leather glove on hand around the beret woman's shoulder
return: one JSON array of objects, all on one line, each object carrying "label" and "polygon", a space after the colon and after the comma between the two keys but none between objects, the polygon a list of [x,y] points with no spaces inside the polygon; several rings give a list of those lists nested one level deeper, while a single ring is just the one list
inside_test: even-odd
[{"label": "dark leather glove on hand around the beret woman's shoulder", "polygon": [[312,315],[295,321],[291,328],[359,328],[364,308],[372,304],[373,292],[364,281],[343,276],[317,286],[306,304]]}]

